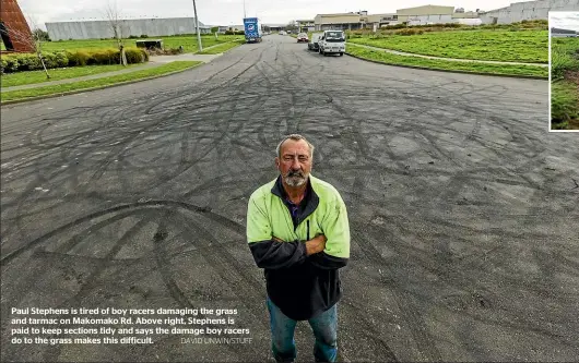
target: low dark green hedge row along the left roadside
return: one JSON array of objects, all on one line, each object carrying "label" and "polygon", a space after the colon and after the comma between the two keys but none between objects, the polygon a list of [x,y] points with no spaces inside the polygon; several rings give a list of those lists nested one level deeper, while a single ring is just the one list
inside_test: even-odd
[{"label": "low dark green hedge row along the left roadside", "polygon": [[[149,53],[144,49],[126,48],[127,62],[143,63],[149,61]],[[47,69],[63,66],[83,66],[101,64],[119,64],[120,50],[76,50],[64,52],[43,52]],[[42,70],[43,63],[35,53],[7,55],[0,59],[0,73]]]}]

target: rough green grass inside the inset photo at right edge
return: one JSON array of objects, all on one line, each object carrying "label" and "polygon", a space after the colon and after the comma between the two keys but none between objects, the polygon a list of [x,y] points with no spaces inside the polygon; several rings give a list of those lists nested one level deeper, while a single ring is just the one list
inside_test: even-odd
[{"label": "rough green grass inside the inset photo at right edge", "polygon": [[579,38],[551,40],[553,130],[579,130]]}]

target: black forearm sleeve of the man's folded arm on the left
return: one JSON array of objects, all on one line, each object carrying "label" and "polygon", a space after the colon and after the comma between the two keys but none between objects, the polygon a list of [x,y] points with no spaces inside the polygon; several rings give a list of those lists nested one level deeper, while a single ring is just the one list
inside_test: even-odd
[{"label": "black forearm sleeve of the man's folded arm on the left", "polygon": [[306,244],[299,241],[261,241],[249,244],[249,249],[260,268],[287,268],[306,261]]}]

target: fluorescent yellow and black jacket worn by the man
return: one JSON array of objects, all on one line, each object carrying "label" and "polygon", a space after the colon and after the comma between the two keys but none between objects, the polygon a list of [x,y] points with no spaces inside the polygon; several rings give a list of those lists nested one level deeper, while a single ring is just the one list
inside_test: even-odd
[{"label": "fluorescent yellow and black jacket worn by the man", "polygon": [[[326,249],[307,256],[305,242],[318,234],[328,239]],[[329,183],[310,174],[294,217],[281,177],[259,187],[248,203],[247,241],[264,269],[268,295],[286,316],[308,319],[340,300],[338,269],[350,258],[350,225],[345,204]]]}]

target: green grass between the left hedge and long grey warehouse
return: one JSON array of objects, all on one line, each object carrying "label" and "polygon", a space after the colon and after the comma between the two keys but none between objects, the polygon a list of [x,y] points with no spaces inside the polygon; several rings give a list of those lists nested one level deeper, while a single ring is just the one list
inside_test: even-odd
[{"label": "green grass between the left hedge and long grey warehouse", "polygon": [[[236,39],[243,39],[240,35],[220,35],[215,39],[214,35],[208,35],[201,37],[203,47],[211,47],[222,43],[228,43]],[[163,39],[163,46],[165,48],[179,48],[182,46],[185,52],[196,52],[199,50],[197,44],[197,36],[170,36],[170,37],[151,37],[150,39]],[[126,47],[137,47],[135,40],[139,39],[125,39]],[[43,44],[43,50],[46,51],[59,51],[59,50],[75,50],[75,49],[98,49],[98,48],[116,48],[117,43],[113,39],[98,40],[98,39],[86,39],[86,40],[63,40],[63,41],[46,41]]]}]

